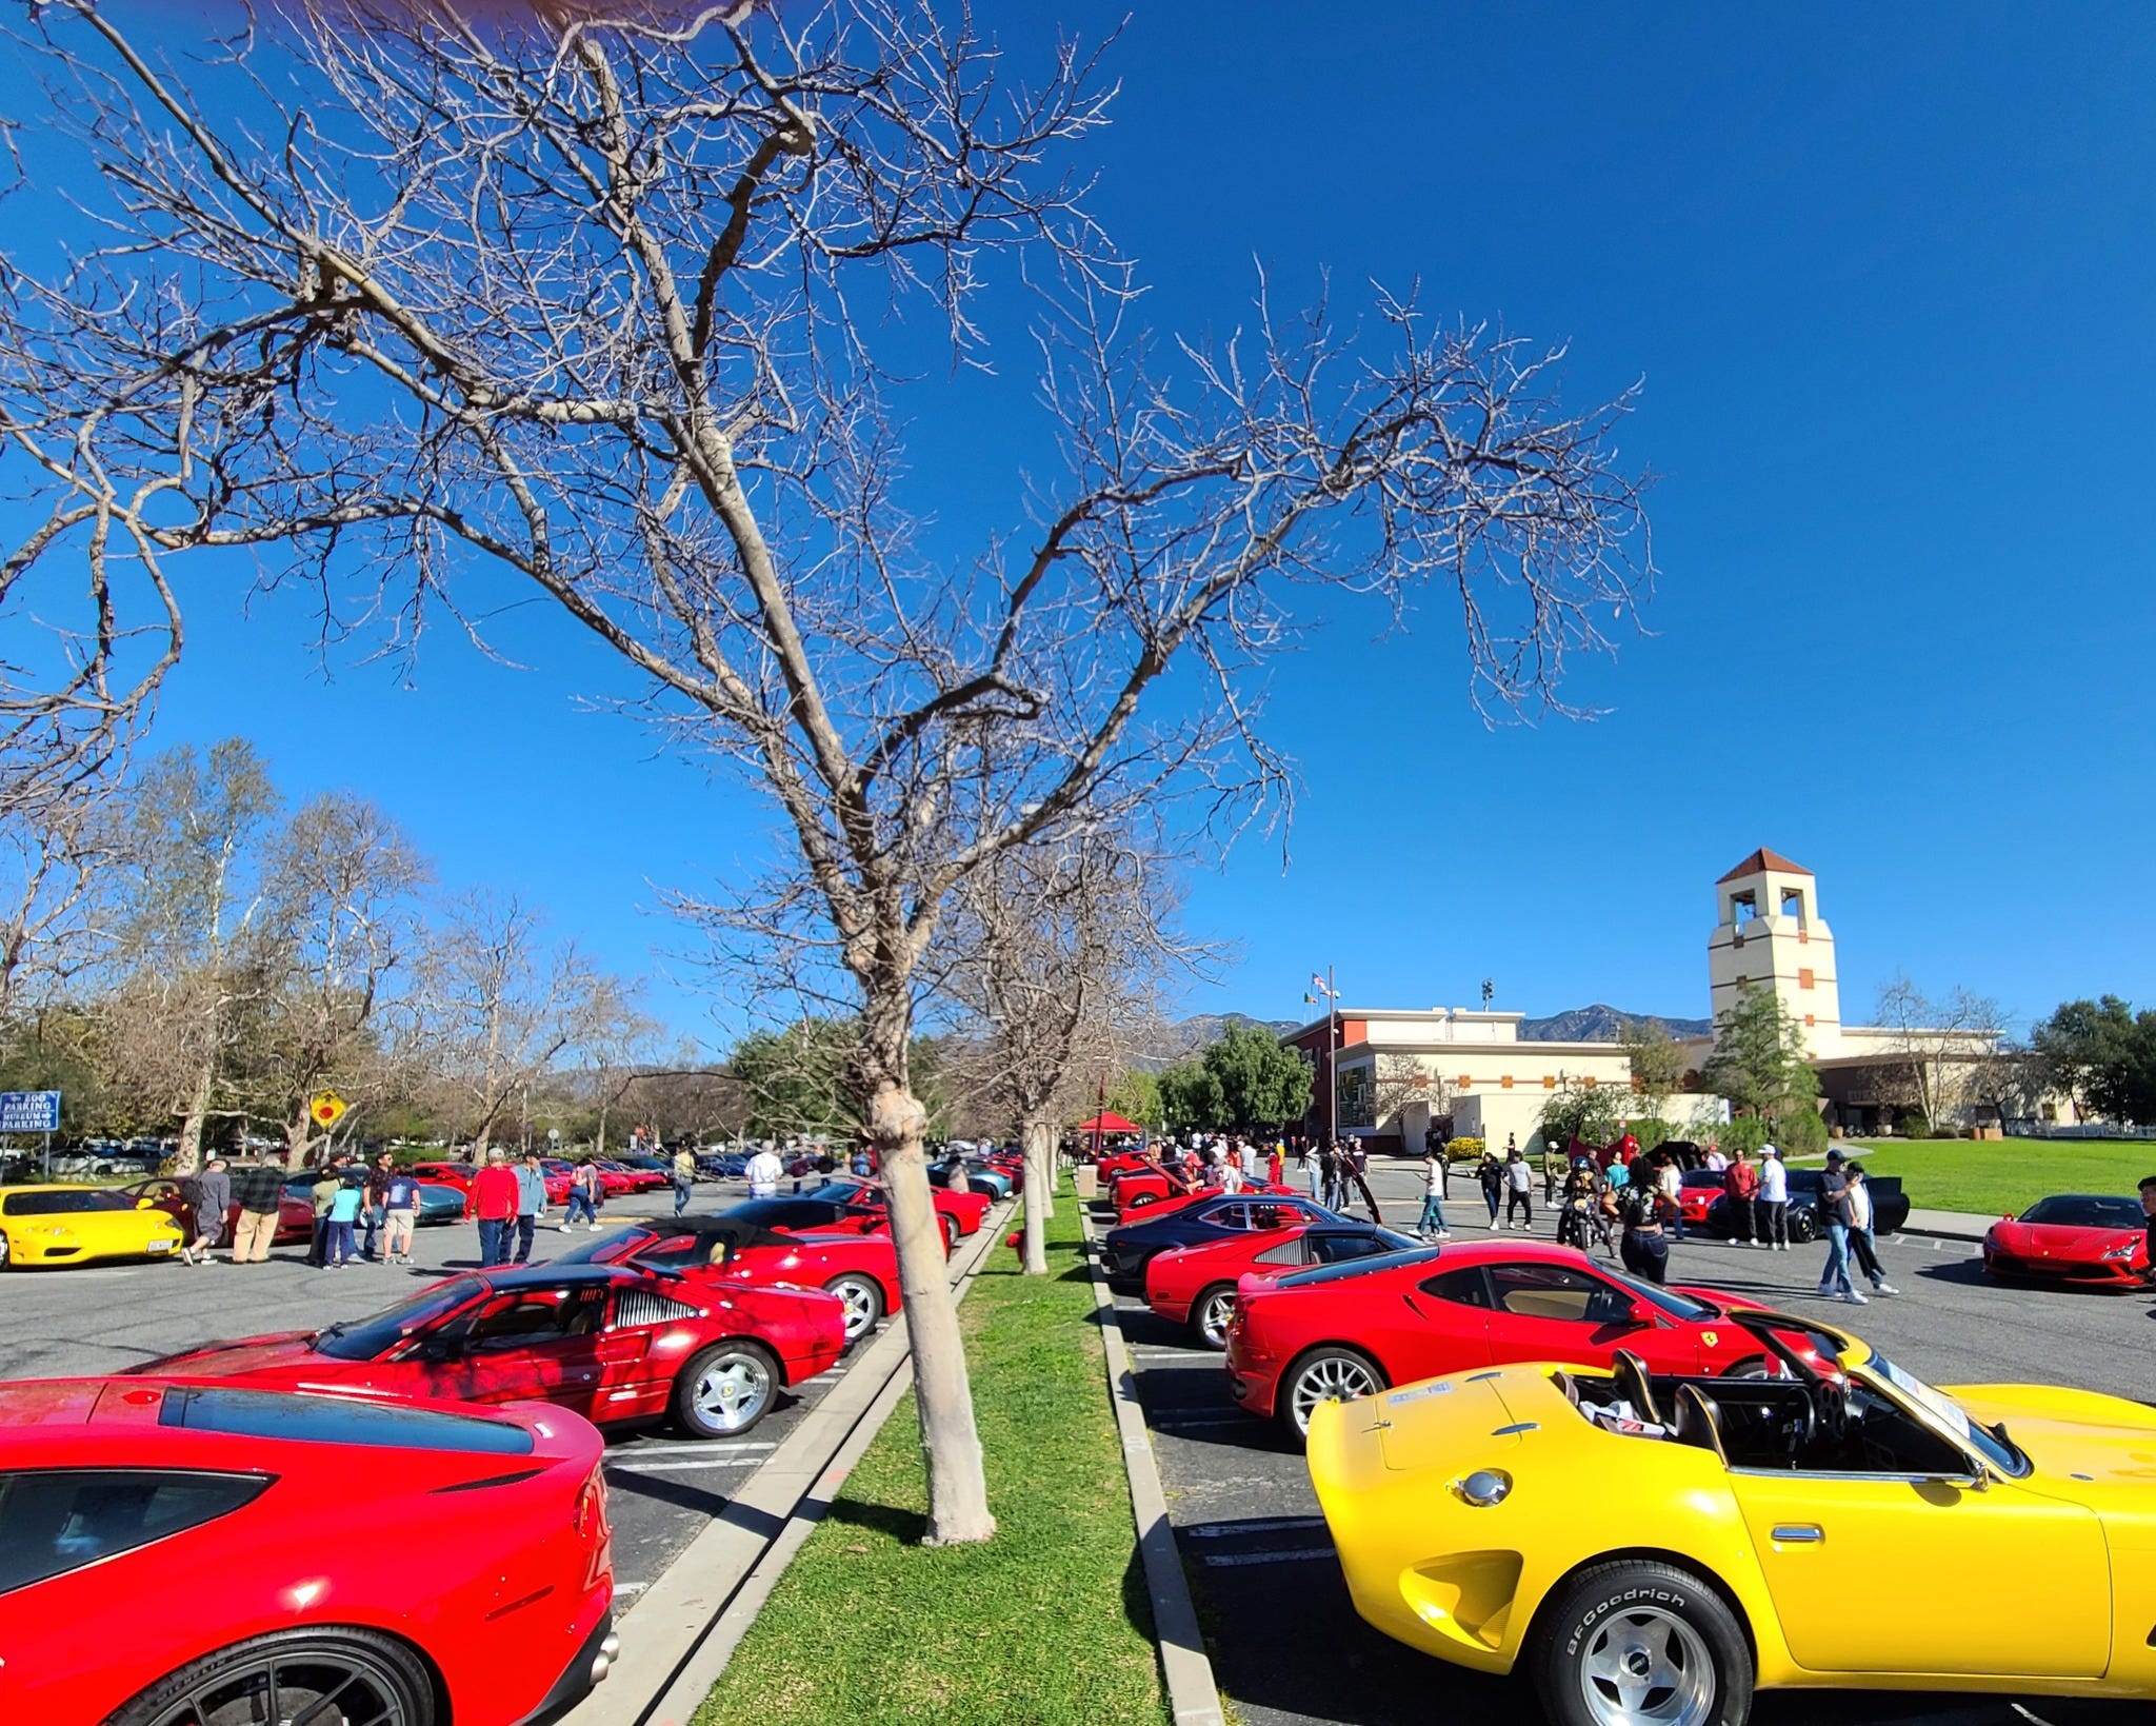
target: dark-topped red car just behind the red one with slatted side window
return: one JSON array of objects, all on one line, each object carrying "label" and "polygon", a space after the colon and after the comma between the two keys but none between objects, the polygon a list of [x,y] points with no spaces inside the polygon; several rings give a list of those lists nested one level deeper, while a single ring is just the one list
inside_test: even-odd
[{"label": "dark-topped red car just behind the red one with slatted side window", "polygon": [[845,1301],[845,1340],[899,1310],[899,1254],[890,1234],[787,1234],[735,1217],[636,1221],[576,1247],[554,1264],[645,1264],[683,1282],[750,1288],[821,1288]]}]

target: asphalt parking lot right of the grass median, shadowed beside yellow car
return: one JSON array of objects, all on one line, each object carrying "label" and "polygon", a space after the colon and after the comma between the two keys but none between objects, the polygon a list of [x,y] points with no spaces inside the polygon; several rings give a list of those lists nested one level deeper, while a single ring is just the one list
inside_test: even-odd
[{"label": "asphalt parking lot right of the grass median, shadowed beside yellow car", "polygon": [[[1384,1219],[1412,1225],[1421,1208],[1419,1172],[1373,1167],[1371,1189]],[[1537,1195],[1539,1197],[1539,1195]],[[1537,1238],[1554,1234],[1539,1215]],[[1455,1238],[1483,1230],[1479,1191],[1453,1182],[1447,1219]],[[2145,1297],[2009,1290],[1990,1286],[1975,1245],[1891,1236],[1880,1243],[1889,1279],[1902,1292],[1869,1305],[1830,1305],[1815,1297],[1824,1245],[1768,1254],[1692,1241],[1671,1254],[1671,1282],[1727,1288],[1770,1299],[1792,1312],[1818,1312],[1884,1348],[1934,1383],[2068,1383],[2145,1400],[2145,1366],[2156,1342]],[[1416,1655],[1356,1618],[1332,1545],[1317,1512],[1302,1452],[1272,1422],[1242,1413],[1227,1394],[1220,1357],[1190,1344],[1179,1327],[1156,1320],[1143,1301],[1117,1297],[1119,1323],[1138,1374],[1153,1433],[1169,1512],[1199,1618],[1212,1642],[1214,1676],[1242,1726],[1399,1726],[1445,1720],[1449,1726],[1537,1720],[1524,1685],[1483,1679]],[[1583,1482],[1580,1515],[1593,1515],[1600,1482]],[[2003,1577],[1951,1579],[1971,1588],[1971,1609],[2012,1612]],[[1852,1614],[1895,1612],[1897,1601],[1848,1579]],[[2012,1700],[1891,1694],[1766,1694],[1761,1726],[1878,1722],[1878,1726],[2126,1726],[2124,1702]]]}]

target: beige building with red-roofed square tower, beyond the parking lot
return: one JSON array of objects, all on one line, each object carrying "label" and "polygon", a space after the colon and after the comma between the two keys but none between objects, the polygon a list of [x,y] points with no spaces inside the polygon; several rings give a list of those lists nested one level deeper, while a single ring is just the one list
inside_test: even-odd
[{"label": "beige building with red-roofed square tower, beyond the parking lot", "polygon": [[[1805,865],[1761,846],[1714,885],[1714,895],[1710,1016],[1723,1018],[1742,990],[1772,988],[1802,1025],[1830,1122],[1876,1131],[1899,1094],[1889,1077],[1904,1072],[1915,1051],[1968,1066],[1994,1049],[1994,1033],[1843,1025],[1835,932],[1820,915],[1818,880]],[[1539,1152],[1542,1109],[1561,1087],[1608,1085],[1632,1098],[1619,1113],[1651,1113],[1619,1044],[1539,1042],[1520,1036],[1520,1020],[1516,1012],[1468,1008],[1341,1008],[1332,1018],[1289,1031],[1283,1042],[1302,1049],[1317,1068],[1313,1128],[1326,1128],[1330,1081],[1339,1131],[1365,1139],[1371,1150],[1421,1150],[1432,1120],[1449,1118],[1455,1137],[1503,1146],[1511,1135]],[[1714,1038],[1684,1040],[1684,1053],[1697,1083]],[[1680,1137],[1712,1137],[1729,1120],[1729,1105],[1688,1090],[1664,1100],[1660,1115]]]}]

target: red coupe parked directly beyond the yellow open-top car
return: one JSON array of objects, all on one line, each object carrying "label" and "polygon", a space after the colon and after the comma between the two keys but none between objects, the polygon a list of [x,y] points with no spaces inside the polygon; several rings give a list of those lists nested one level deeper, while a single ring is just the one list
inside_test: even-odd
[{"label": "red coupe parked directly beyond the yellow open-top car", "polygon": [[1246,1275],[1227,1329],[1229,1394],[1298,1437],[1319,1402],[1501,1361],[1608,1366],[1630,1348],[1654,1372],[1770,1370],[1725,1323],[1751,1307],[1656,1288],[1572,1247],[1475,1241]]}]

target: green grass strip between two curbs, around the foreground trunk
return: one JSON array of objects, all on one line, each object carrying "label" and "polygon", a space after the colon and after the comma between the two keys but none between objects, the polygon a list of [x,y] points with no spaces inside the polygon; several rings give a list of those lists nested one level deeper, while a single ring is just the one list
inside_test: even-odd
[{"label": "green grass strip between two curbs, around the foreground trunk", "polygon": [[1074,1200],[1048,1238],[1046,1277],[998,1245],[959,1307],[996,1538],[918,1545],[908,1394],[694,1726],[1166,1722]]}]

